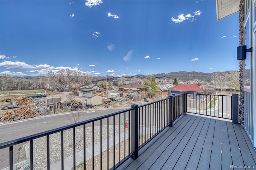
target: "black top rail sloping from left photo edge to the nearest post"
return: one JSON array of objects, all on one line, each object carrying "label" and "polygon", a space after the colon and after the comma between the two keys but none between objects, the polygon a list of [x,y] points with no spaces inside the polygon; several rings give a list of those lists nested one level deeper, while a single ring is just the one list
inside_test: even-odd
[{"label": "black top rail sloping from left photo edge to the nearest post", "polygon": [[84,125],[84,124],[99,121],[101,119],[106,119],[108,117],[112,117],[114,115],[118,115],[120,113],[125,113],[125,112],[132,111],[132,110],[134,110],[134,108],[125,109],[125,110],[118,111],[118,112],[115,112],[115,113],[110,113],[108,115],[104,115],[104,116],[101,116],[101,117],[96,117],[96,118],[93,118],[93,119],[89,119],[89,120],[86,120],[86,121],[74,123],[74,124],[67,125],[67,126],[64,126],[64,127],[55,128],[55,129],[52,129],[52,130],[47,130],[45,132],[40,132],[40,133],[37,133],[37,134],[32,134],[30,136],[26,136],[26,137],[23,137],[23,138],[18,138],[18,139],[15,139],[15,140],[10,140],[8,142],[3,142],[3,143],[0,143],[0,149],[7,148],[9,146],[13,146],[15,144],[27,142],[27,141],[30,141],[30,140],[34,140],[36,138],[40,138],[40,137],[47,136],[47,135],[50,135],[50,134],[54,134],[54,133],[57,133],[57,132],[61,132],[61,131],[64,131],[64,130],[67,130],[67,129],[70,129],[70,128],[78,127],[78,126],[81,126],[81,125]]}]

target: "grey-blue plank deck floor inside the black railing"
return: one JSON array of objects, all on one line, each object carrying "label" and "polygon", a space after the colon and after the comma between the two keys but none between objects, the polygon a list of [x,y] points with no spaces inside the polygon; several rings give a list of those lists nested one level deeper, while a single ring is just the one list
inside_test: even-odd
[{"label": "grey-blue plank deck floor inside the black railing", "polygon": [[118,170],[226,170],[256,168],[256,152],[237,124],[184,115]]}]

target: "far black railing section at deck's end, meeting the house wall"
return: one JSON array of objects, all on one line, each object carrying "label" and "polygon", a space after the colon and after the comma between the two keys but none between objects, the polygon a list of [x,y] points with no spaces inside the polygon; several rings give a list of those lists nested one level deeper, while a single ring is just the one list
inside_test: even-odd
[{"label": "far black railing section at deck's end, meeting the house wall", "polygon": [[218,117],[238,123],[238,94],[186,94],[187,113]]}]

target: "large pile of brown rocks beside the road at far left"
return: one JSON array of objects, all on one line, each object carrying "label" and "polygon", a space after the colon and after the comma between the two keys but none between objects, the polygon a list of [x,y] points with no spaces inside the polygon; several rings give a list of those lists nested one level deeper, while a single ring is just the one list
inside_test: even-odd
[{"label": "large pile of brown rocks beside the road at far left", "polygon": [[18,121],[48,114],[49,111],[46,109],[39,109],[35,106],[21,106],[20,109],[7,111],[3,115],[0,115],[0,123]]}]

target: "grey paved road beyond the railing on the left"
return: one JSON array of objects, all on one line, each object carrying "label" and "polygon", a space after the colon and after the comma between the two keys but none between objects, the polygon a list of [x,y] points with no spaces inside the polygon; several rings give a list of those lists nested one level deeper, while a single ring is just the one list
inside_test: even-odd
[{"label": "grey paved road beyond the railing on the left", "polygon": [[[108,115],[110,113],[122,111],[124,108],[120,109],[95,109],[81,112],[81,117],[78,122],[93,119],[95,117],[100,117],[103,115]],[[10,140],[22,138],[32,134],[37,134],[54,128],[64,127],[66,125],[72,124],[68,120],[68,115],[71,113],[62,113],[56,115],[49,115],[44,117],[37,117],[32,119],[26,119],[23,121],[15,121],[12,123],[2,123],[0,124],[0,143],[7,142]],[[18,144],[14,146],[14,164],[19,162],[19,149],[23,144]],[[8,166],[9,164],[9,153],[8,148],[2,149],[0,151],[0,169]],[[26,157],[26,156],[25,156]],[[26,158],[23,158],[26,159]]]}]

